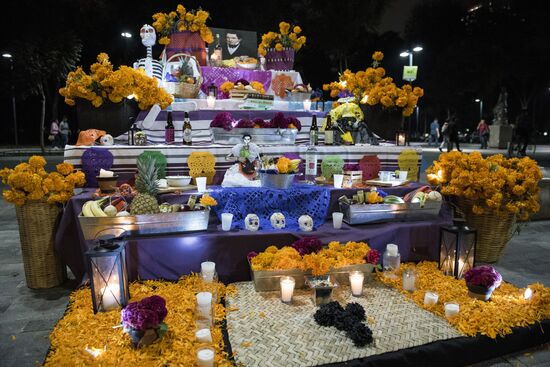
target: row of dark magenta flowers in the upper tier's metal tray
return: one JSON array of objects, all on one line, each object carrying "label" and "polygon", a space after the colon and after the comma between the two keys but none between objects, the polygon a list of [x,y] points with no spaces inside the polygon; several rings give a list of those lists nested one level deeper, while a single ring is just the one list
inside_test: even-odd
[{"label": "row of dark magenta flowers in the upper tier's metal tray", "polygon": [[261,119],[259,117],[252,120],[241,119],[235,120],[231,113],[229,112],[220,112],[212,122],[210,122],[210,127],[221,127],[224,130],[230,131],[233,128],[279,128],[279,129],[297,129],[298,131],[302,130],[302,124],[300,120],[296,117],[289,116],[285,117],[282,112],[278,112],[273,118],[269,121]]}]

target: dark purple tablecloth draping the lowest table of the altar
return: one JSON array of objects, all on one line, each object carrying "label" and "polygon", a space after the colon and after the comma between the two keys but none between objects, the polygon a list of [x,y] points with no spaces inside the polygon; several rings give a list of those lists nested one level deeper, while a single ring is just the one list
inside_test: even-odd
[{"label": "dark purple tablecloth draping the lowest table of the altar", "polygon": [[[389,188],[391,194],[403,195],[417,187]],[[347,190],[331,189],[331,202]],[[352,190],[350,190],[352,191]],[[191,193],[188,193],[191,194]],[[84,241],[79,228],[78,214],[90,192],[74,196],[67,204],[56,234],[55,249],[80,282],[85,276],[84,252],[91,242]],[[335,199],[336,198],[336,199]],[[187,195],[162,195],[161,202],[186,202]],[[329,213],[335,208],[331,207]],[[289,245],[302,237],[316,236],[323,243],[333,240],[366,241],[379,251],[386,244],[399,246],[402,261],[436,260],[438,258],[439,227],[451,222],[449,208],[444,205],[439,217],[432,221],[396,222],[348,226],[335,230],[332,221],[327,221],[314,232],[262,230],[221,231],[221,224],[212,214],[207,231],[169,234],[131,239],[127,245],[130,280],[170,279],[200,271],[200,263],[206,260],[216,262],[221,281],[231,283],[250,280],[246,255],[250,251],[262,251],[270,245]]]}]

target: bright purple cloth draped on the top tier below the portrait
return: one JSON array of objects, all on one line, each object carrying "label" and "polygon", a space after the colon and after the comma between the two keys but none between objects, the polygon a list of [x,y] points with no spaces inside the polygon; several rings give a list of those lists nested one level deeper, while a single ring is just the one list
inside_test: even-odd
[{"label": "bright purple cloth draped on the top tier below the portrait", "polygon": [[202,70],[202,85],[201,90],[208,94],[208,87],[210,84],[214,84],[218,87],[217,98],[226,98],[224,93],[220,90],[220,86],[230,81],[235,83],[239,79],[245,79],[249,83],[252,81],[260,82],[264,86],[264,90],[268,90],[271,85],[271,72],[261,70],[245,70],[235,68],[216,68],[212,66],[201,66]]}]

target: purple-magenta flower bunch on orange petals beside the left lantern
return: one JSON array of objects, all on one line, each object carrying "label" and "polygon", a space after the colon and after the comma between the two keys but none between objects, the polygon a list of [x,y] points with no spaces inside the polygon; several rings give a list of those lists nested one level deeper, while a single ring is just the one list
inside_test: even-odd
[{"label": "purple-magenta flower bunch on orange petals beside the left lantern", "polygon": [[166,301],[160,296],[151,296],[132,302],[121,311],[124,328],[137,330],[155,329],[168,314]]}]

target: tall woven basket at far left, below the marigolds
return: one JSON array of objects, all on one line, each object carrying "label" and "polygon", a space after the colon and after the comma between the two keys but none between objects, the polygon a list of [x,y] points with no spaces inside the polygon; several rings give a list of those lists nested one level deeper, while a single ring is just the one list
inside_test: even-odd
[{"label": "tall woven basket at far left, below the marigolds", "polygon": [[54,251],[57,219],[55,204],[28,202],[15,207],[19,224],[25,278],[29,288],[51,288],[63,283],[65,272]]}]

